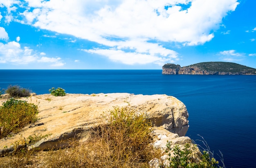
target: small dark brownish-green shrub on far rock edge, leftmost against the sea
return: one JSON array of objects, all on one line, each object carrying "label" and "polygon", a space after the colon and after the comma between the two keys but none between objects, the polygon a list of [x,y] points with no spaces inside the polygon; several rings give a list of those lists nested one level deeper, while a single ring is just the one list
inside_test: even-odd
[{"label": "small dark brownish-green shrub on far rock edge, leftmost against the sea", "polygon": [[29,97],[31,93],[29,89],[22,88],[19,85],[9,85],[5,92],[14,98]]}]

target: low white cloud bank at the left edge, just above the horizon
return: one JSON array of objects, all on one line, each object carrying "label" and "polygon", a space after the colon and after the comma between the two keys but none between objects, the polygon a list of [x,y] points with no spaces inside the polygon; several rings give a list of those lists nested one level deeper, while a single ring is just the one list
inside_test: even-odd
[{"label": "low white cloud bank at the left edge, just above the horizon", "polygon": [[[44,52],[39,55],[29,47],[21,48],[16,41],[7,44],[0,43],[0,63],[10,63],[14,65],[28,65],[30,63],[50,63],[52,66],[62,66],[65,63],[61,58],[44,57]],[[43,56],[43,57],[42,57]]]}]

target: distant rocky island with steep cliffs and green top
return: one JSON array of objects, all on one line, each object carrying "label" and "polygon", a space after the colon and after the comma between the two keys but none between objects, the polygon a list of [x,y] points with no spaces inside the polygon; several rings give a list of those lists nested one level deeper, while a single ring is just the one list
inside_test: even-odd
[{"label": "distant rocky island with steep cliffs and green top", "polygon": [[231,62],[202,62],[181,67],[166,63],[162,74],[256,75],[256,69]]}]

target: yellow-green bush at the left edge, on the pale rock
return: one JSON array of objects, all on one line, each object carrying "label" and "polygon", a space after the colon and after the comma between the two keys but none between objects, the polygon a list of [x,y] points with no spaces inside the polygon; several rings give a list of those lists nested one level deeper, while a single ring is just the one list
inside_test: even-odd
[{"label": "yellow-green bush at the left edge, on the pale rock", "polygon": [[37,105],[27,103],[25,100],[10,98],[0,107],[0,138],[9,133],[17,133],[27,124],[37,120]]}]

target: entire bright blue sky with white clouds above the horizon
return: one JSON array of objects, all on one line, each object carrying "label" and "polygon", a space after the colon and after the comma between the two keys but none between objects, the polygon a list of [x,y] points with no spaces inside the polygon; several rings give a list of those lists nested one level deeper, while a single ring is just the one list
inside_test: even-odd
[{"label": "entire bright blue sky with white clouds above the horizon", "polygon": [[0,0],[0,69],[256,68],[256,0]]}]

